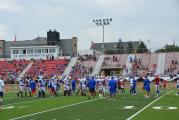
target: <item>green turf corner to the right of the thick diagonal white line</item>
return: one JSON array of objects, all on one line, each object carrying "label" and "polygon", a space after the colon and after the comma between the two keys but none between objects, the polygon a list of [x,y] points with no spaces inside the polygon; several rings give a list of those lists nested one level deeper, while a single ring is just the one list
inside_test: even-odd
[{"label": "green turf corner to the right of the thick diagonal white line", "polygon": [[[176,91],[164,96],[159,101],[152,104],[148,109],[140,113],[134,120],[178,120],[179,118],[179,96],[175,95]],[[162,109],[156,110],[153,107],[163,106]],[[177,107],[176,110],[168,110],[168,107]]]}]

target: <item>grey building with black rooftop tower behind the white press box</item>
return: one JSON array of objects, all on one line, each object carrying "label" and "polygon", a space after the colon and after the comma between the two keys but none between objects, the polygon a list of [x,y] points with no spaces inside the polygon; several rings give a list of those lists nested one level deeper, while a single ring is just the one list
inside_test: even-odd
[{"label": "grey building with black rooftop tower behind the white press box", "polygon": [[[58,48],[58,56],[77,56],[77,37],[72,37],[71,39],[61,39],[59,32],[57,32],[56,30],[49,30],[47,32],[47,37],[37,37],[32,40],[23,41],[0,40],[0,57],[10,58],[14,56],[11,55],[13,50],[19,50],[19,52],[25,54],[27,53],[27,48],[29,47],[38,48],[44,46],[48,48],[49,46],[56,46],[56,48]],[[33,52],[35,52],[35,49]]]}]

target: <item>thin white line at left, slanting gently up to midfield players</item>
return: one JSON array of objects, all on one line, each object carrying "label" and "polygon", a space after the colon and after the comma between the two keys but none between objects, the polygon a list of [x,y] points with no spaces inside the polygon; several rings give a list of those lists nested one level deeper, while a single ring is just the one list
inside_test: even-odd
[{"label": "thin white line at left, slanting gently up to midfield players", "polygon": [[74,103],[74,104],[70,104],[70,105],[65,105],[65,106],[61,106],[61,107],[57,107],[57,108],[52,108],[52,109],[49,109],[49,110],[45,110],[45,111],[41,111],[41,112],[29,114],[29,115],[24,115],[24,116],[17,117],[17,118],[12,118],[12,119],[9,119],[9,120],[18,120],[18,119],[21,119],[21,118],[26,118],[26,117],[29,117],[29,116],[38,115],[38,114],[42,114],[42,113],[46,113],[46,112],[50,112],[50,111],[54,111],[54,110],[58,110],[58,109],[62,109],[62,108],[67,108],[67,107],[71,107],[71,106],[75,106],[75,105],[79,105],[79,104],[83,104],[83,103],[88,103],[88,102],[100,100],[100,99],[103,99],[103,98],[104,97],[97,98],[97,99],[94,99],[94,100],[82,101],[82,102],[78,102],[78,103]]}]

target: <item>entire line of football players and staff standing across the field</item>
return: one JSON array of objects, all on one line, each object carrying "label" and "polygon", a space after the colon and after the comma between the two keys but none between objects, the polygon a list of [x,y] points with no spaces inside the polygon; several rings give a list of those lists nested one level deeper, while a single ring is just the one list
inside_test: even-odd
[{"label": "entire line of football players and staff standing across the field", "polygon": [[[156,87],[156,97],[159,96],[159,86],[161,85],[160,76],[154,77],[117,77],[117,76],[88,76],[75,80],[71,76],[56,76],[53,75],[51,79],[44,79],[43,75],[39,75],[37,80],[32,77],[22,77],[19,80],[18,97],[46,97],[47,92],[51,96],[58,96],[59,92],[64,96],[81,95],[87,96],[88,99],[99,94],[100,97],[109,97],[110,100],[114,99],[116,93],[125,93],[127,84],[130,85],[130,94],[135,95],[137,80],[142,79],[143,89],[146,91],[145,97],[150,98],[151,81],[153,80]],[[177,95],[179,95],[179,74],[175,77],[177,79]],[[166,80],[162,81],[163,87],[166,88]],[[4,82],[0,79],[0,106],[2,105]],[[1,108],[1,107],[0,107]]]}]

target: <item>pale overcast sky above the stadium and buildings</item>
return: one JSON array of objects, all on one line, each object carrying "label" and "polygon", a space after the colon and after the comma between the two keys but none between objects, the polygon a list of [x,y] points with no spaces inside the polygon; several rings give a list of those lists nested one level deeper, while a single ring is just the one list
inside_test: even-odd
[{"label": "pale overcast sky above the stadium and buildings", "polygon": [[102,42],[92,20],[112,18],[105,42],[143,40],[152,49],[179,45],[179,0],[0,0],[0,39],[30,40],[57,29],[61,38],[78,37],[78,49]]}]

